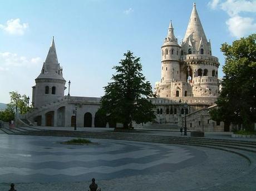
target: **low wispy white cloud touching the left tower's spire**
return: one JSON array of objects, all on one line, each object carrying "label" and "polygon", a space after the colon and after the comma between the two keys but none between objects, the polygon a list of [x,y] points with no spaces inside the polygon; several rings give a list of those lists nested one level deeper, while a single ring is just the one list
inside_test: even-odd
[{"label": "low wispy white cloud touching the left tower's spire", "polygon": [[0,52],[0,71],[8,71],[14,67],[31,67],[42,63],[40,57],[28,59],[24,56],[18,56],[16,53]]}]

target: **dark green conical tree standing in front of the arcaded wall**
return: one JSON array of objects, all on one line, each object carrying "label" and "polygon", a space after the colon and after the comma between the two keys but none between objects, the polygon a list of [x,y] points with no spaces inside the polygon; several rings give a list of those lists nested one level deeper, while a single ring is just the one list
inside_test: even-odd
[{"label": "dark green conical tree standing in front of the arcaded wall", "polygon": [[[132,128],[132,121],[146,123],[155,118],[154,105],[147,98],[155,97],[151,84],[141,73],[140,58],[127,51],[120,66],[114,66],[116,74],[105,89],[101,98],[101,110],[110,118],[111,123],[122,123],[124,128]],[[146,82],[145,82],[146,81]]]}]

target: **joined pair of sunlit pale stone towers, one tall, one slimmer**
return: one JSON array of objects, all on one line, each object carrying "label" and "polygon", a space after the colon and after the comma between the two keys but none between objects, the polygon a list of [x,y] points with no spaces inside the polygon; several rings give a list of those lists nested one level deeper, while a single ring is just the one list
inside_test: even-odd
[{"label": "joined pair of sunlit pale stone towers, one tall, one slimmer", "polygon": [[218,58],[211,55],[195,3],[180,46],[170,22],[161,47],[161,80],[156,82],[159,97],[218,96]]}]

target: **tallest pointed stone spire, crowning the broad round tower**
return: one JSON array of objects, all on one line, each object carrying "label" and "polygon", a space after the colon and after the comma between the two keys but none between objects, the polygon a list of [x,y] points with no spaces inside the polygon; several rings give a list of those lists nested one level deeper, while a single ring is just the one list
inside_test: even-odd
[{"label": "tallest pointed stone spire, crowning the broad round tower", "polygon": [[205,43],[207,42],[204,29],[201,25],[200,18],[198,16],[198,12],[196,11],[195,3],[193,4],[193,9],[189,19],[188,28],[186,29],[183,41],[186,42],[188,41],[189,38],[193,42],[194,49],[199,49],[200,41],[203,41]]}]

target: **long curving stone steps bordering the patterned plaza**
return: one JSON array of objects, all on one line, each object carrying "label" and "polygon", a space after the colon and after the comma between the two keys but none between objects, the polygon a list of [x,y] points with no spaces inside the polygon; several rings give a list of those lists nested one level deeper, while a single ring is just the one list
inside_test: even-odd
[{"label": "long curving stone steps bordering the patterned plaza", "polygon": [[[70,137],[70,138],[93,138],[93,139],[114,139],[139,142],[153,142],[165,144],[193,145],[197,147],[207,147],[232,152],[246,158],[249,163],[252,161],[244,152],[256,153],[256,142],[247,140],[228,140],[214,138],[195,138],[195,137],[173,137],[168,135],[152,135],[120,132],[79,132],[71,130],[41,130],[36,128],[17,128],[16,131],[6,130],[7,134],[49,136],[49,137]],[[7,132],[8,131],[8,132]],[[18,132],[19,131],[19,132]]]}]

